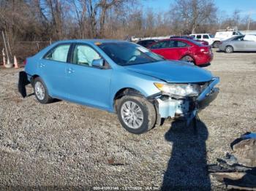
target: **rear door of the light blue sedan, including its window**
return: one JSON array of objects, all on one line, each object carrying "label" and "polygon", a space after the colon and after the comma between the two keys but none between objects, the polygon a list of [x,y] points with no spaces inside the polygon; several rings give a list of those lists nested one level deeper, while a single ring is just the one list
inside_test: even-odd
[{"label": "rear door of the light blue sedan, including its window", "polygon": [[66,71],[70,47],[71,44],[58,44],[39,60],[39,76],[53,97],[68,98]]}]

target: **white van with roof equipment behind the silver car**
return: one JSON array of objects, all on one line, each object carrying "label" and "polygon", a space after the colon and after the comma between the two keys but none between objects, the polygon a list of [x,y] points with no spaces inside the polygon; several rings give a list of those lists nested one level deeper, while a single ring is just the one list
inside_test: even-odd
[{"label": "white van with roof equipment behind the silver car", "polygon": [[217,33],[214,36],[214,42],[212,44],[213,47],[217,48],[219,47],[219,43],[222,41],[225,41],[226,39],[230,39],[233,36],[241,36],[240,31],[235,30],[220,30],[217,31]]}]

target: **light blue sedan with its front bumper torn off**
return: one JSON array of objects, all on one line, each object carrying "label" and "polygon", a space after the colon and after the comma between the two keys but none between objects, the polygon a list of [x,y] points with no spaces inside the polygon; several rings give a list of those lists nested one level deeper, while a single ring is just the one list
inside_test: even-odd
[{"label": "light blue sedan with its front bumper torn off", "polygon": [[116,112],[137,134],[162,118],[189,124],[219,92],[210,71],[118,40],[56,42],[27,58],[25,72],[41,104],[58,98]]}]

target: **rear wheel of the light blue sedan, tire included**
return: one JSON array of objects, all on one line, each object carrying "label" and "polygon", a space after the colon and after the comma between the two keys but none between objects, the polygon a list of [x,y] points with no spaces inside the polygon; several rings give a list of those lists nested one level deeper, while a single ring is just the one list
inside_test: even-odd
[{"label": "rear wheel of the light blue sedan, tire included", "polygon": [[48,94],[48,89],[45,82],[43,82],[40,77],[34,79],[33,87],[34,95],[36,95],[37,101],[39,101],[41,104],[48,104],[53,101],[53,98],[51,98]]}]

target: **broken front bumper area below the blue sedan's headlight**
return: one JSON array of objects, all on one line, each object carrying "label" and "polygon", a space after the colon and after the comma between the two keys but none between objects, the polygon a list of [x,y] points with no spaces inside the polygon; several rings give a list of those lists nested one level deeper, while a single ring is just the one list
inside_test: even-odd
[{"label": "broken front bumper area below the blue sedan's headlight", "polygon": [[219,77],[208,82],[208,86],[197,97],[172,98],[161,95],[156,98],[159,117],[161,118],[184,118],[187,125],[196,116],[200,109],[204,109],[211,101],[217,98],[219,88],[214,87],[219,83]]}]

